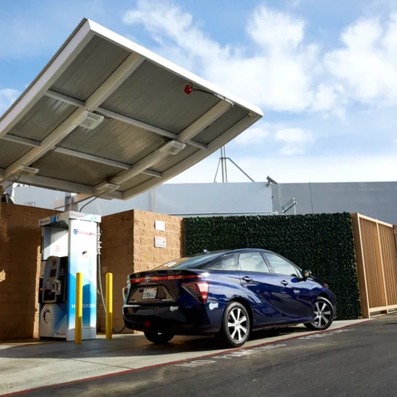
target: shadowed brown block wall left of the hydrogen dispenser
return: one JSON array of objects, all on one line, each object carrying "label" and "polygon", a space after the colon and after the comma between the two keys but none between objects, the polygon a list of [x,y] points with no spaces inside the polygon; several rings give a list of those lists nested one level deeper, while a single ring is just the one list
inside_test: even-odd
[{"label": "shadowed brown block wall left of the hydrogen dispenser", "polygon": [[56,213],[1,204],[0,340],[38,336],[39,219]]}]

